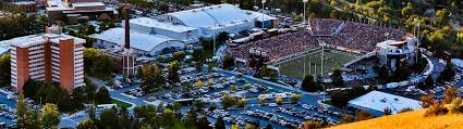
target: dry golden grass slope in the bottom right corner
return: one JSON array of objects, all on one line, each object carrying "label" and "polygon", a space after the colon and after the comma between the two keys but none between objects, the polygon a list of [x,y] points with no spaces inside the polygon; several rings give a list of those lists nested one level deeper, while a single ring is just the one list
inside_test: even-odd
[{"label": "dry golden grass slope in the bottom right corner", "polygon": [[463,114],[424,117],[425,109],[340,125],[329,129],[463,129]]}]

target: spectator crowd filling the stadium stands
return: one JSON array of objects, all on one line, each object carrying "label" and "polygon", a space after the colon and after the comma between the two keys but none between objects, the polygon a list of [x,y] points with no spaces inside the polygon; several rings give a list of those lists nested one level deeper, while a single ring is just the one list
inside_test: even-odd
[{"label": "spectator crowd filling the stadium stands", "polygon": [[310,28],[257,40],[229,50],[234,57],[247,60],[251,49],[267,53],[270,62],[279,62],[313,51],[325,42],[330,47],[342,47],[361,52],[374,51],[376,44],[386,40],[404,40],[407,35],[394,28],[344,22],[333,18],[310,20]]}]

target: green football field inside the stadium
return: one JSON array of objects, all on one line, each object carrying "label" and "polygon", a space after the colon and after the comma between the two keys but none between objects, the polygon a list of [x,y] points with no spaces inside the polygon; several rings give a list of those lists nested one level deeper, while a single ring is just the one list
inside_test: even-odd
[{"label": "green football field inside the stadium", "polygon": [[[305,74],[316,76],[316,73],[321,73],[321,50],[316,51],[304,56],[280,63],[277,66],[280,68],[280,74],[282,75],[303,79],[305,63]],[[326,50],[324,52],[324,75],[332,73],[337,68],[341,68],[343,64],[356,57],[354,54],[342,53],[336,50]]]}]

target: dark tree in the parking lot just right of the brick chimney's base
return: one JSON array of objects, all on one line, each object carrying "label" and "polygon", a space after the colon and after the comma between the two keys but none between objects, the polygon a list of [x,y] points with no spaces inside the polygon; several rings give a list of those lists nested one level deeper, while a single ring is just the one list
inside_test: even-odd
[{"label": "dark tree in the parking lot just right of the brick chimney's base", "polygon": [[146,65],[141,70],[142,90],[144,93],[151,93],[163,85],[161,69],[156,64]]}]

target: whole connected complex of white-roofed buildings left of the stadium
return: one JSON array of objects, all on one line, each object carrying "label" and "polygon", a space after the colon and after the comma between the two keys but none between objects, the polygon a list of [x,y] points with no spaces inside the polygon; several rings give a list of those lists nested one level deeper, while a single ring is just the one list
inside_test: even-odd
[{"label": "whole connected complex of white-roofed buildings left of the stadium", "polygon": [[[231,15],[232,14],[232,15]],[[277,17],[241,10],[232,4],[219,4],[160,15],[156,18],[132,18],[122,26],[130,26],[131,49],[136,54],[159,55],[184,49],[200,40],[212,40],[226,31],[239,34],[256,27],[272,28],[279,25]],[[123,27],[90,35],[94,46],[122,53]]]}]

